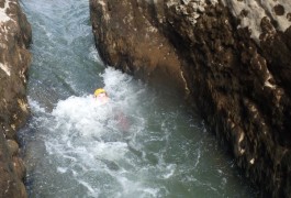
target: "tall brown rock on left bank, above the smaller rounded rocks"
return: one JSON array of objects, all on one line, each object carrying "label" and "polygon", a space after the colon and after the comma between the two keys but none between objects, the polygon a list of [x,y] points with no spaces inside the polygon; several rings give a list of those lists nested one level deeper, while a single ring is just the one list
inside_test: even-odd
[{"label": "tall brown rock on left bank, above the smaller rounded rocks", "polygon": [[29,114],[25,82],[31,26],[18,1],[8,2],[2,13],[7,19],[0,20],[0,125],[7,139],[15,139],[15,130]]}]

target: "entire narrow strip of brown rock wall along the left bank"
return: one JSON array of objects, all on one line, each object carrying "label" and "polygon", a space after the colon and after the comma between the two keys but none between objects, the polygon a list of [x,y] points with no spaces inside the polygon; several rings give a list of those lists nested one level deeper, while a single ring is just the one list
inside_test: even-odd
[{"label": "entire narrow strip of brown rock wall along the left bank", "polygon": [[25,73],[31,34],[18,0],[0,0],[0,197],[26,197],[15,132],[29,114]]}]

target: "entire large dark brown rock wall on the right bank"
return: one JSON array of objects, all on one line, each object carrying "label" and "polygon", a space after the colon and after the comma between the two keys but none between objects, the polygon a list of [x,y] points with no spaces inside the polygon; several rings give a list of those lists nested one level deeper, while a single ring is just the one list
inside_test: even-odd
[{"label": "entire large dark brown rock wall on the right bank", "polygon": [[90,0],[111,66],[195,105],[261,197],[291,197],[291,2]]}]

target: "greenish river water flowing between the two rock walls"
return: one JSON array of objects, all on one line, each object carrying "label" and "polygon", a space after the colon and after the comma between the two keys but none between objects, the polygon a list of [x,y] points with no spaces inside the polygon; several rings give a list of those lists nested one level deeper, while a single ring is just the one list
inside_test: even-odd
[{"label": "greenish river water flowing between the two rock walls", "polygon": [[102,64],[87,0],[22,7],[33,29],[32,117],[19,132],[30,197],[256,196],[181,96]]}]

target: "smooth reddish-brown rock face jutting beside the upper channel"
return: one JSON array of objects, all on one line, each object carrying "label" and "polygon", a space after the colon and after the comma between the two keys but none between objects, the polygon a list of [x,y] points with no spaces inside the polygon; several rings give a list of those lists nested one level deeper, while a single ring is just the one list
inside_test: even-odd
[{"label": "smooth reddish-brown rock face jutting beside the upper channel", "polygon": [[105,64],[148,81],[176,88],[184,85],[175,47],[153,24],[152,16],[144,14],[139,2],[112,0],[90,4],[97,46]]}]

